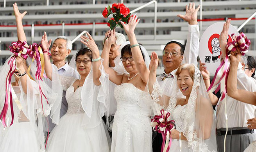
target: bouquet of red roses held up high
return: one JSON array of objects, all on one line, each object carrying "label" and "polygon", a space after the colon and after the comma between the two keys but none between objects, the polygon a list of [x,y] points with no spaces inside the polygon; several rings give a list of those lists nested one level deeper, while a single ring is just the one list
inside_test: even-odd
[{"label": "bouquet of red roses held up high", "polygon": [[124,28],[120,21],[128,23],[129,18],[131,17],[130,9],[122,3],[115,3],[112,4],[112,7],[109,5],[105,7],[104,11],[102,12],[104,18],[107,18],[110,14],[113,15],[113,18],[109,19],[107,26],[109,26],[111,30],[118,26]]}]

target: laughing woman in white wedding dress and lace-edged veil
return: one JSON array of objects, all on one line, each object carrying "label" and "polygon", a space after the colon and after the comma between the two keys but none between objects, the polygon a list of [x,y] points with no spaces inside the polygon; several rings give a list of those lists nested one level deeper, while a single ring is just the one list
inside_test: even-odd
[{"label": "laughing woman in white wedding dress and lace-edged veil", "polygon": [[193,64],[181,65],[175,73],[174,88],[170,88],[172,93],[166,96],[156,81],[157,66],[158,55],[153,52],[149,91],[155,112],[166,109],[175,121],[175,129],[170,133],[172,145],[169,152],[217,151],[213,108],[199,69]]}]

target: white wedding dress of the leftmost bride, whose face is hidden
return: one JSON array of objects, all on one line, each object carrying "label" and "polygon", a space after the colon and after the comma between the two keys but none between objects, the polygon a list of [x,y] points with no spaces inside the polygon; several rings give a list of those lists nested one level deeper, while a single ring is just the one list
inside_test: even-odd
[{"label": "white wedding dress of the leftmost bride, whose face is hidden", "polygon": [[[18,99],[20,99],[20,87],[13,87]],[[4,94],[2,96],[5,96]],[[3,98],[2,98],[3,99]],[[4,100],[2,101],[4,102]],[[23,104],[23,103],[21,103]],[[19,110],[15,102],[13,102],[14,122],[10,127],[4,128],[2,122],[1,128],[1,152],[39,152],[39,131],[34,122]],[[11,119],[9,119],[9,122]]]}]

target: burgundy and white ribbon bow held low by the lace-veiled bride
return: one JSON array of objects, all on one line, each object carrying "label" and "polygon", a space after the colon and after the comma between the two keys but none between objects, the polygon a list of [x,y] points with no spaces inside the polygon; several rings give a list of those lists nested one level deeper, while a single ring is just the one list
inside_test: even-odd
[{"label": "burgundy and white ribbon bow held low by the lace-veiled bride", "polygon": [[160,115],[156,115],[151,119],[151,127],[153,127],[154,131],[161,133],[163,137],[161,152],[168,152],[172,144],[172,136],[170,136],[169,141],[169,133],[174,129],[174,120],[170,120],[170,115],[169,112],[162,109]]}]

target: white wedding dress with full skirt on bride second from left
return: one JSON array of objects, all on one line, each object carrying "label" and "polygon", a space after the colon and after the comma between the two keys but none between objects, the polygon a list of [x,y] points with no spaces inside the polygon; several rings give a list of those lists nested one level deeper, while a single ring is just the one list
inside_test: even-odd
[{"label": "white wedding dress with full skirt on bride second from left", "polygon": [[46,150],[47,152],[109,152],[103,122],[92,128],[82,125],[84,117],[81,105],[82,87],[74,92],[74,81],[75,78],[61,76],[63,90],[66,90],[68,111],[50,133]]}]

